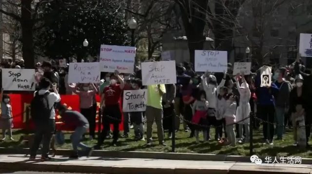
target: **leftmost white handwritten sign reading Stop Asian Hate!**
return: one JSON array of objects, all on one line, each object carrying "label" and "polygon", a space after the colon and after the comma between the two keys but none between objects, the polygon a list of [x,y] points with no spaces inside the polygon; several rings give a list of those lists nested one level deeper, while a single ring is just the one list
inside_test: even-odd
[{"label": "leftmost white handwritten sign reading Stop Asian Hate!", "polygon": [[2,88],[5,91],[35,91],[34,69],[2,69]]}]

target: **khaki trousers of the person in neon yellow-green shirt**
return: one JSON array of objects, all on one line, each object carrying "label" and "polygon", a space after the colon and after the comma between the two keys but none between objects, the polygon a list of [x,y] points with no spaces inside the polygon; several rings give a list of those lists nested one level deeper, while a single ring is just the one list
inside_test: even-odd
[{"label": "khaki trousers of the person in neon yellow-green shirt", "polygon": [[147,129],[146,129],[146,137],[147,142],[152,142],[152,131],[153,131],[153,123],[154,120],[157,125],[157,135],[158,135],[158,141],[159,143],[164,142],[164,129],[162,127],[162,118],[163,118],[163,112],[162,109],[154,108],[151,106],[146,106],[146,119],[147,119]]}]

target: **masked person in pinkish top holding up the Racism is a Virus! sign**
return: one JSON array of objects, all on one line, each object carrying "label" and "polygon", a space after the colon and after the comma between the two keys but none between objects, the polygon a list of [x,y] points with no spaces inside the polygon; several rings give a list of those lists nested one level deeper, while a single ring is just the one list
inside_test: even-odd
[{"label": "masked person in pinkish top holding up the Racism is a Virus! sign", "polygon": [[95,115],[93,114],[93,104],[94,104],[94,95],[98,93],[97,87],[92,83],[92,88],[90,90],[90,84],[82,84],[82,90],[77,88],[74,90],[74,93],[80,97],[80,112],[85,116],[90,124],[89,135],[90,140],[95,138]]}]

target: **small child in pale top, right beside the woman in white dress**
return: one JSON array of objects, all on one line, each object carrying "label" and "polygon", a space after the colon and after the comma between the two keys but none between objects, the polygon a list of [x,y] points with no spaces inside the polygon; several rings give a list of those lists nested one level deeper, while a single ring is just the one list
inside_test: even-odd
[{"label": "small child in pale top, right beside the woman in white dress", "polygon": [[231,144],[235,146],[236,137],[234,132],[234,123],[235,123],[235,112],[236,112],[236,97],[233,94],[227,95],[227,104],[225,111],[225,122],[226,122],[226,132],[228,135],[228,141],[225,145]]}]

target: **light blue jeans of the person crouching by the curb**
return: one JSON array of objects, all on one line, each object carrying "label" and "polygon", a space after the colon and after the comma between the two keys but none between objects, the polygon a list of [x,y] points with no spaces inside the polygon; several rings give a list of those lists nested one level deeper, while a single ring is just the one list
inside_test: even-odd
[{"label": "light blue jeans of the person crouching by the curb", "polygon": [[77,127],[75,129],[75,132],[70,136],[70,139],[71,139],[72,145],[73,145],[73,150],[75,153],[78,153],[78,147],[84,151],[90,149],[90,147],[88,147],[85,144],[83,144],[82,142],[80,142],[82,135],[85,132],[87,132],[88,128],[89,128],[89,124]]}]

